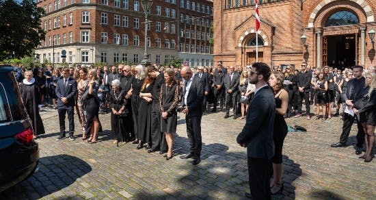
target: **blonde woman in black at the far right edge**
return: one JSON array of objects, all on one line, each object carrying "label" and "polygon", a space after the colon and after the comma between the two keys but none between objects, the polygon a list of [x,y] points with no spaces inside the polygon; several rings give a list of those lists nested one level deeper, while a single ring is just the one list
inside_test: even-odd
[{"label": "blonde woman in black at the far right edge", "polygon": [[364,132],[366,135],[365,143],[366,143],[366,153],[360,156],[359,158],[364,158],[364,162],[371,162],[373,159],[372,157],[372,149],[373,145],[375,145],[375,127],[376,127],[376,74],[375,73],[367,73],[366,75],[366,86],[369,86],[368,90],[368,102],[364,105],[363,108],[360,110],[355,111],[355,113],[360,114],[365,113],[365,122],[362,123]]}]

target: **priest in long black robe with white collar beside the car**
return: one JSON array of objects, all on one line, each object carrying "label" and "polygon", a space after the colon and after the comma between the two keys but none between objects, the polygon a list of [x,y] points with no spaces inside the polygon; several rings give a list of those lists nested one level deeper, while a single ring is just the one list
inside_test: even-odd
[{"label": "priest in long black robe with white collar beside the car", "polygon": [[36,79],[33,78],[31,71],[25,71],[24,76],[25,79],[23,79],[23,82],[20,84],[20,92],[23,104],[33,125],[34,138],[36,138],[36,136],[45,133],[38,108],[40,104],[40,88],[36,83]]}]

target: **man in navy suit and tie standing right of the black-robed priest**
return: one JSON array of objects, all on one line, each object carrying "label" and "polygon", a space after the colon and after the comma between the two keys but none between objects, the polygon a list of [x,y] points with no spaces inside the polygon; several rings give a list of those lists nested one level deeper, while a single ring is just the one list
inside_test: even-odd
[{"label": "man in navy suit and tie standing right of the black-robed priest", "polygon": [[60,136],[57,140],[62,140],[66,137],[65,132],[65,114],[68,115],[69,121],[69,138],[75,140],[73,133],[75,132],[75,121],[73,118],[73,108],[75,107],[75,95],[77,92],[77,82],[70,77],[69,68],[62,69],[62,79],[57,81],[56,96],[57,96],[57,112],[59,114]]}]

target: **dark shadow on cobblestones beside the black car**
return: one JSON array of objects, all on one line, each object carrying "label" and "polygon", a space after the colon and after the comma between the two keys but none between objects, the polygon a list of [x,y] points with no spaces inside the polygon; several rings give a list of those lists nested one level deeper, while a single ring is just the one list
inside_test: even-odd
[{"label": "dark shadow on cobblestones beside the black car", "polygon": [[16,192],[24,192],[25,199],[40,199],[70,186],[90,171],[92,167],[75,156],[61,154],[40,158],[39,171],[3,191],[0,199],[12,199]]}]

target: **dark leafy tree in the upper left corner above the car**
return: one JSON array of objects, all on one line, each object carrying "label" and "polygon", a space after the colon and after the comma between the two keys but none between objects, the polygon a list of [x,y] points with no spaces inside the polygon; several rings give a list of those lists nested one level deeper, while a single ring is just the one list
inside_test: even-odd
[{"label": "dark leafy tree in the upper left corner above the car", "polygon": [[33,55],[46,35],[41,27],[43,14],[33,0],[0,0],[0,60]]}]

